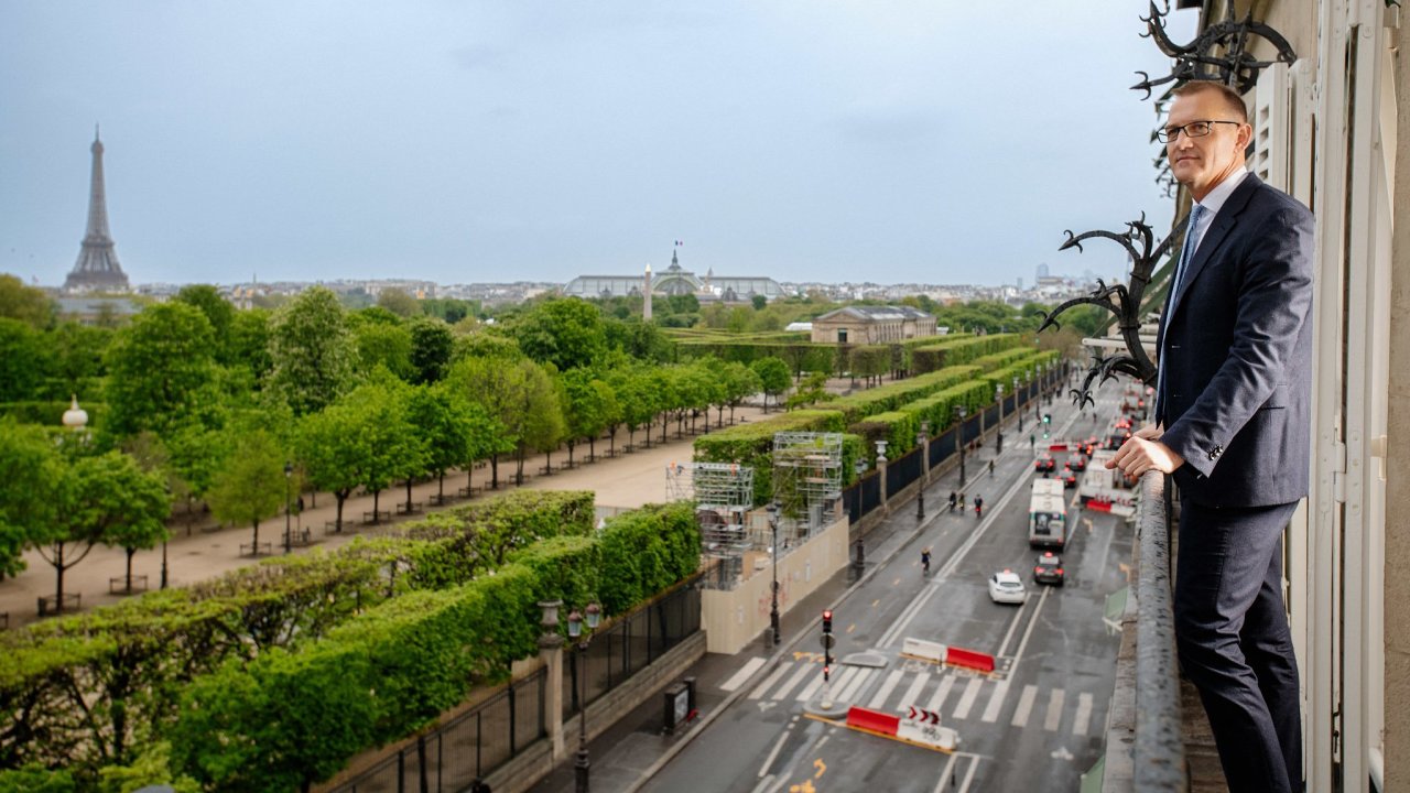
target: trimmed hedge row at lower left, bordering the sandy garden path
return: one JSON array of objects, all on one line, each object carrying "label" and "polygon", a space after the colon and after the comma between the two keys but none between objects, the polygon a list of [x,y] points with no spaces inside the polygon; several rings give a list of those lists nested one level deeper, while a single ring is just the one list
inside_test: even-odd
[{"label": "trimmed hedge row at lower left, bordering the sandy garden path", "polygon": [[515,491],[331,555],[266,560],[6,632],[0,768],[92,775],[125,762],[193,679],[314,642],[389,597],[468,580],[539,538],[585,535],[592,515],[591,492]]}]

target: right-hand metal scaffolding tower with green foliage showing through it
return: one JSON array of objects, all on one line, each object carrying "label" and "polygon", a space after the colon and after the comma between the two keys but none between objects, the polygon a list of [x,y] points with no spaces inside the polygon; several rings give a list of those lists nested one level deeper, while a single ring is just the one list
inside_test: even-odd
[{"label": "right-hand metal scaffolding tower with green foliage showing through it", "polygon": [[811,536],[838,516],[842,504],[842,433],[774,433],[774,501],[780,518]]}]

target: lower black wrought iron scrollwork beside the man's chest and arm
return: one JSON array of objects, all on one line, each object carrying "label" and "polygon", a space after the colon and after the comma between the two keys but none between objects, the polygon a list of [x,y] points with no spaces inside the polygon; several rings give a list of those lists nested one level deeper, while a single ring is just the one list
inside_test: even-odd
[{"label": "lower black wrought iron scrollwork beside the man's chest and arm", "polygon": [[1182,217],[1175,229],[1170,230],[1170,234],[1165,240],[1160,240],[1159,244],[1155,243],[1155,234],[1145,222],[1145,213],[1141,213],[1141,220],[1127,223],[1127,231],[1121,234],[1103,230],[1086,231],[1083,234],[1065,231],[1067,241],[1058,250],[1077,248],[1080,251],[1083,250],[1083,240],[1100,237],[1112,240],[1127,248],[1127,254],[1129,254],[1132,261],[1129,286],[1125,284],[1112,284],[1108,286],[1104,281],[1097,279],[1097,288],[1090,295],[1073,298],[1062,303],[1043,317],[1043,323],[1038,329],[1039,333],[1049,326],[1060,329],[1062,325],[1058,322],[1058,316],[1079,305],[1103,308],[1117,317],[1117,327],[1127,344],[1127,351],[1105,357],[1093,353],[1093,364],[1087,371],[1086,380],[1081,382],[1081,388],[1073,388],[1072,391],[1073,402],[1094,405],[1091,387],[1114,380],[1118,373],[1128,374],[1148,385],[1155,384],[1155,363],[1151,361],[1151,357],[1145,353],[1145,347],[1141,346],[1141,301],[1145,298],[1146,286],[1151,285],[1156,262],[1170,251],[1175,240],[1184,231],[1187,220],[1189,216]]}]

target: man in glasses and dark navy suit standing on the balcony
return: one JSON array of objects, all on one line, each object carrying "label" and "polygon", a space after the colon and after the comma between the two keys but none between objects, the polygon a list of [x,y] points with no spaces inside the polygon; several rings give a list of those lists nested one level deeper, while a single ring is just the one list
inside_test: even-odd
[{"label": "man in glasses and dark navy suit standing on the balcony", "polygon": [[1108,467],[1180,487],[1180,666],[1230,790],[1301,790],[1282,536],[1311,456],[1313,216],[1245,171],[1242,99],[1193,82],[1160,131],[1194,198],[1158,337],[1156,416]]}]

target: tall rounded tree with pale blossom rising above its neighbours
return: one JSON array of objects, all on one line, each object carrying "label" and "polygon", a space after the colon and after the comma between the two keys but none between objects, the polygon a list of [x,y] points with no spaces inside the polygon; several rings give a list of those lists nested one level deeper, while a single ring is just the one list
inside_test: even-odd
[{"label": "tall rounded tree with pale blossom rising above its neighbours", "polygon": [[321,411],[351,391],[357,347],[338,296],[314,286],[279,309],[269,358],[269,385],[298,416]]}]

